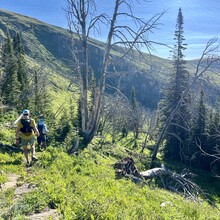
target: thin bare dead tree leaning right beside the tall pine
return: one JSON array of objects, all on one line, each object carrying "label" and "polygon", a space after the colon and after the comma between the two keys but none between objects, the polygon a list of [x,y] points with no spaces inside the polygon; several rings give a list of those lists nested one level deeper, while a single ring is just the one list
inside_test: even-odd
[{"label": "thin bare dead tree leaning right beside the tall pine", "polygon": [[152,163],[153,161],[156,159],[157,156],[157,152],[159,150],[159,147],[164,139],[164,136],[167,132],[168,127],[170,126],[170,123],[172,121],[172,119],[174,118],[174,116],[177,114],[180,106],[183,104],[185,97],[189,94],[189,91],[193,88],[193,86],[195,85],[195,83],[201,79],[205,77],[205,73],[209,70],[209,68],[214,65],[215,63],[219,63],[220,62],[220,56],[219,55],[215,55],[215,53],[219,52],[220,49],[220,44],[218,43],[218,39],[217,38],[213,38],[211,40],[209,40],[209,42],[206,44],[206,47],[202,53],[201,58],[199,59],[197,65],[196,65],[196,69],[195,69],[195,73],[192,76],[192,81],[189,84],[189,86],[186,88],[186,90],[182,93],[176,107],[173,109],[173,111],[170,113],[169,117],[167,117],[167,120],[163,126],[162,131],[160,132],[158,141],[155,145],[154,148],[154,152],[152,154]]}]

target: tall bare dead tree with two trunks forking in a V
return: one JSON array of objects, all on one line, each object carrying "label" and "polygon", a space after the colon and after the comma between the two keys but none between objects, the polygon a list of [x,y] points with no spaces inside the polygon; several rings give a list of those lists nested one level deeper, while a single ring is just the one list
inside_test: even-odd
[{"label": "tall bare dead tree with two trunks forking in a V", "polygon": [[[139,4],[139,2],[141,1],[115,0],[112,15],[107,16],[96,14],[95,0],[67,0],[68,5],[65,11],[69,29],[72,33],[77,34],[80,44],[80,50],[75,57],[78,59],[77,68],[81,76],[81,130],[85,144],[93,139],[99,125],[101,103],[105,92],[106,72],[114,57],[112,56],[112,49],[115,46],[121,46],[123,48],[121,58],[125,58],[134,50],[139,53],[141,53],[140,49],[150,51],[152,44],[159,44],[150,41],[149,34],[159,25],[158,21],[164,12],[145,21],[133,13],[135,4]],[[121,22],[122,20],[123,22]],[[106,30],[106,27],[100,27],[103,24],[107,26],[108,31],[105,48],[102,51],[100,70],[97,74],[99,77],[96,79],[97,85],[94,89],[93,108],[91,114],[89,114],[88,79],[91,67],[89,66],[88,47],[92,31],[101,34],[101,30]]]}]

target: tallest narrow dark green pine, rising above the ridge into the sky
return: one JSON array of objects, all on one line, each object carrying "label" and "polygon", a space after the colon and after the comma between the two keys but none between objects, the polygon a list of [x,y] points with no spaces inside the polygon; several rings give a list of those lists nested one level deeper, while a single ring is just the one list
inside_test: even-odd
[{"label": "tallest narrow dark green pine, rising above the ridge into the sky", "polygon": [[[164,98],[160,103],[162,113],[160,120],[162,124],[165,123],[166,118],[178,105],[178,102],[181,100],[182,94],[188,87],[189,83],[189,73],[185,68],[186,62],[183,55],[183,51],[186,49],[186,44],[183,43],[185,40],[183,33],[183,15],[181,8],[179,8],[174,38],[176,44],[172,51],[174,71],[171,73],[169,85],[164,90]],[[189,97],[189,95],[184,97],[178,112],[173,117],[167,129],[164,151],[166,158],[174,160],[185,159],[184,148],[188,141],[187,127],[190,119],[190,112],[188,109],[190,102]]]}]

